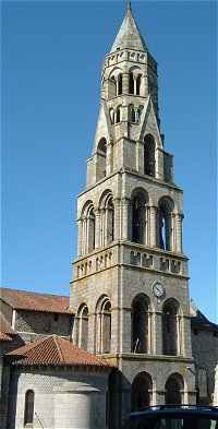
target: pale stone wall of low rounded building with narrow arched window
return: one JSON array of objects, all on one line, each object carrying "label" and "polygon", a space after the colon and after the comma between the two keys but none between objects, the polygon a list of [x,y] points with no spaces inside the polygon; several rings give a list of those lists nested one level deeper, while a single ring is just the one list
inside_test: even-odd
[{"label": "pale stone wall of low rounded building with narrow arched window", "polygon": [[14,369],[10,385],[9,429],[23,429],[25,393],[33,390],[34,428],[106,428],[108,373],[80,369]]}]

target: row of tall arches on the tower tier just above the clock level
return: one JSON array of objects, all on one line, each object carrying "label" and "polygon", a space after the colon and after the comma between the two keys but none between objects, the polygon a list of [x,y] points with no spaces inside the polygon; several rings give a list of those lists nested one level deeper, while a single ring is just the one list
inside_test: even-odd
[{"label": "row of tall arches on the tower tier just above the clock level", "polygon": [[[120,236],[116,219],[123,215]],[[116,239],[159,248],[182,251],[182,214],[174,211],[173,201],[164,196],[158,206],[150,205],[148,193],[137,188],[130,200],[114,200],[110,190],[101,195],[98,206],[88,201],[78,219],[78,254],[110,245]]]}]

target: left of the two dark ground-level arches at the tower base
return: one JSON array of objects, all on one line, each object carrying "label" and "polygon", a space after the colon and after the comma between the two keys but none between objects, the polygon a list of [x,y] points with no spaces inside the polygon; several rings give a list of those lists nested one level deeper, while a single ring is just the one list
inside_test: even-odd
[{"label": "left of the two dark ground-level arches at the tower base", "polygon": [[140,372],[132,383],[132,412],[152,404],[153,380],[147,372]]}]

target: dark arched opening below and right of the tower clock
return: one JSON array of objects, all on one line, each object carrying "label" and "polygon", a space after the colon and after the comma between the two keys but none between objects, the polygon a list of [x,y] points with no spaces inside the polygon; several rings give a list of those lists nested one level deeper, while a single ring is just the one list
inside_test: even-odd
[{"label": "dark arched opening below and right of the tower clock", "polygon": [[178,355],[178,312],[174,301],[167,301],[162,309],[162,351],[164,355]]}]

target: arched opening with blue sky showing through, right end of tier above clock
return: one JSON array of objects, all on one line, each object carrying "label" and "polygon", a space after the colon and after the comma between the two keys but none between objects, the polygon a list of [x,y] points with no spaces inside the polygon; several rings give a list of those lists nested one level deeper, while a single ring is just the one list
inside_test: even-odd
[{"label": "arched opening with blue sky showing through, right end of tier above clock", "polygon": [[159,247],[164,250],[172,250],[172,200],[162,198],[158,205],[158,229]]}]

